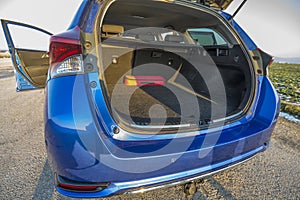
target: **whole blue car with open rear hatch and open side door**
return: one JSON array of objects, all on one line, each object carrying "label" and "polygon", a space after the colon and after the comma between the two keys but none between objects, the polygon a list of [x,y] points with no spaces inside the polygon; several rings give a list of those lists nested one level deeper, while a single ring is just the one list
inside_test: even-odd
[{"label": "whole blue car with open rear hatch and open side door", "polygon": [[[280,107],[267,76],[272,57],[223,12],[230,2],[85,0],[56,35],[2,20],[17,91],[45,88],[59,193],[183,184],[269,147]],[[50,44],[15,45],[15,26]]]}]

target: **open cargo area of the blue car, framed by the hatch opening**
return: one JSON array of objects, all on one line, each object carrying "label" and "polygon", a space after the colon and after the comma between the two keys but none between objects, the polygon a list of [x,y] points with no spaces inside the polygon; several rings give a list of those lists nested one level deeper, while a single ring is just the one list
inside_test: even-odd
[{"label": "open cargo area of the blue car, framed by the hatch opening", "polygon": [[160,1],[116,1],[101,27],[103,88],[114,119],[173,132],[240,117],[253,93],[246,50],[218,14]]}]

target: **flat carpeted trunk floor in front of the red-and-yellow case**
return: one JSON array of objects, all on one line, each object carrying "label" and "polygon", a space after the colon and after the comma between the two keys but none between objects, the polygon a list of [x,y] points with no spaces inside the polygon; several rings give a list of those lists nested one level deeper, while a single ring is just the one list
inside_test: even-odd
[{"label": "flat carpeted trunk floor in front of the red-and-yellow case", "polygon": [[199,97],[169,83],[165,86],[114,86],[113,91],[110,90],[111,106],[129,124],[198,124],[211,118],[223,118],[237,109],[237,105],[226,103],[224,97],[217,97],[216,103],[212,103],[201,98],[202,95],[209,99],[207,94],[198,93]]}]

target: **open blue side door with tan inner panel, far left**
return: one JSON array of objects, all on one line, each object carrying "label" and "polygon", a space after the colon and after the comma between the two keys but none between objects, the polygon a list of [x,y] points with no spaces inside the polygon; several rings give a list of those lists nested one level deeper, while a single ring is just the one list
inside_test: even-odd
[{"label": "open blue side door with tan inner panel, far left", "polygon": [[49,41],[43,29],[1,20],[16,77],[16,90],[44,88],[49,68]]}]

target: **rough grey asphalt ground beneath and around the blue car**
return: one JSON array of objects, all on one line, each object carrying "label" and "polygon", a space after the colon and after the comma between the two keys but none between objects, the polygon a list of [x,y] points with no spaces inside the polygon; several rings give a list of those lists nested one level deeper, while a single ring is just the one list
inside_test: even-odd
[{"label": "rough grey asphalt ground beneath and around the blue car", "polygon": [[[43,138],[43,90],[16,93],[14,78],[1,73],[0,199],[70,199],[53,188]],[[300,125],[280,119],[270,149],[196,187],[193,196],[176,186],[107,199],[300,199]]]}]

